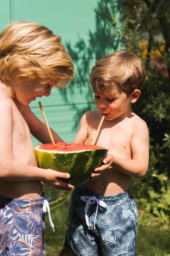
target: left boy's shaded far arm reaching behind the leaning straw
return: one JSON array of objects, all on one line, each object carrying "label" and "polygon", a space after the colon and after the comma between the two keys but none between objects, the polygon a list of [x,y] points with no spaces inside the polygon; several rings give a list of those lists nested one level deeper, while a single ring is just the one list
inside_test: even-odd
[{"label": "left boy's shaded far arm reaching behind the leaning straw", "polygon": [[[29,106],[23,106],[22,115],[30,128],[31,134],[37,140],[41,141],[42,144],[51,143],[46,125],[34,115]],[[63,142],[54,130],[51,129],[51,132],[55,142]]]}]

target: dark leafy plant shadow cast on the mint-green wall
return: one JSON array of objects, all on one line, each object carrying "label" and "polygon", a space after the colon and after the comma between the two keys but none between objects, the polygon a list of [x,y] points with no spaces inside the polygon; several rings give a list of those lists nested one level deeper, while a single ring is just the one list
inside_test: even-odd
[{"label": "dark leafy plant shadow cast on the mint-green wall", "polygon": [[76,87],[81,94],[84,94],[87,102],[83,108],[80,108],[76,102],[71,102],[73,109],[76,110],[74,128],[79,125],[81,116],[91,109],[94,102],[89,82],[92,66],[104,55],[121,49],[121,38],[119,35],[114,35],[116,25],[112,23],[112,17],[115,17],[120,23],[122,22],[122,0],[99,0],[94,11],[96,29],[94,32],[89,30],[88,41],[85,42],[83,38],[79,38],[74,46],[70,42],[66,43],[66,48],[74,62],[76,79],[70,83],[67,90],[60,89],[59,91],[65,102],[70,103],[68,94],[73,95]]}]

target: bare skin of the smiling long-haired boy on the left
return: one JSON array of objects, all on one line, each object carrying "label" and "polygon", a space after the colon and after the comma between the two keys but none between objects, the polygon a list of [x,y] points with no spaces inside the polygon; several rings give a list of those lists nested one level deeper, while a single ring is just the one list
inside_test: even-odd
[{"label": "bare skin of the smiling long-haired boy on the left", "polygon": [[[57,83],[57,81],[56,81]],[[42,143],[51,143],[43,124],[29,104],[36,97],[49,96],[53,84],[0,82],[0,194],[20,199],[42,196],[41,181],[56,189],[71,191],[74,186],[62,182],[66,173],[37,167],[30,132]],[[52,130],[55,141],[63,140]]]}]

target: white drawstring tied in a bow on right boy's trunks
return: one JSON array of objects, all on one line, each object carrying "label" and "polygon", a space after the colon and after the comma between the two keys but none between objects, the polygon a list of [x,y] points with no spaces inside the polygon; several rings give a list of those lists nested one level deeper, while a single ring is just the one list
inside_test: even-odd
[{"label": "white drawstring tied in a bow on right boy's trunks", "polygon": [[80,199],[82,201],[86,202],[85,220],[86,220],[86,225],[88,226],[89,229],[90,229],[90,224],[89,224],[89,219],[88,219],[88,216],[87,216],[87,211],[89,209],[89,205],[94,204],[95,202],[97,203],[96,213],[95,213],[95,220],[94,220],[94,229],[95,229],[96,217],[97,217],[97,211],[98,211],[99,205],[106,208],[106,209],[107,209],[108,205],[105,202],[103,202],[102,200],[98,199],[96,196],[81,196]]}]

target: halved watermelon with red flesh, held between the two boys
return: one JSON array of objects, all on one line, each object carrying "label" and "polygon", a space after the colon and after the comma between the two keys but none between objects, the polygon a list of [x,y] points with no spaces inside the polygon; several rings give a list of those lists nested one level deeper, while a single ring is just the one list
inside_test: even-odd
[{"label": "halved watermelon with red flesh, held between the two boys", "polygon": [[38,166],[68,172],[69,179],[64,181],[79,186],[90,179],[94,169],[102,164],[108,149],[85,144],[67,144],[56,142],[43,144],[35,148]]}]

